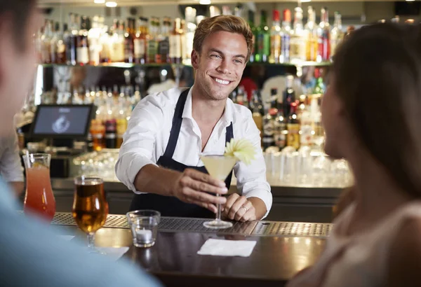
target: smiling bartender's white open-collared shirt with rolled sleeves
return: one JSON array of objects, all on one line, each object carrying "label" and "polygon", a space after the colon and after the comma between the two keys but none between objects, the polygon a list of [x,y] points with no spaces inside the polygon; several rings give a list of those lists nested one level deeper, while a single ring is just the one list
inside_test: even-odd
[{"label": "smiling bartender's white open-collared shirt with rolled sleeves", "polygon": [[[165,152],[173,125],[175,105],[184,88],[149,94],[133,110],[128,128],[123,136],[116,176],[134,193],[140,194],[133,185],[135,176],[145,165],[156,165]],[[192,89],[187,95],[182,113],[182,125],[175,147],[173,160],[184,165],[201,167],[201,131],[192,117]],[[251,112],[244,106],[227,99],[225,112],[210,134],[203,152],[222,155],[225,151],[226,128],[232,123],[234,139],[246,138],[253,143],[257,156],[250,165],[238,162],[234,167],[236,184],[245,197],[259,197],[266,204],[267,214],[272,207],[272,193],[266,181],[265,159],[260,145],[260,131]],[[267,214],[265,216],[267,216]]]}]

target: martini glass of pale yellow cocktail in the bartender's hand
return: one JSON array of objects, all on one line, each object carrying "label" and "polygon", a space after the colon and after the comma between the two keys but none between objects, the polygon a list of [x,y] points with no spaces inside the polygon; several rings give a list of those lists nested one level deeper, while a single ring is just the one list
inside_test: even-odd
[{"label": "martini glass of pale yellow cocktail in the bartender's hand", "polygon": [[[214,179],[219,179],[220,181],[225,181],[225,179],[227,179],[227,176],[232,172],[232,168],[237,162],[236,158],[211,153],[203,153],[200,158],[210,176]],[[219,197],[220,195],[217,194],[216,196]],[[221,220],[221,205],[217,204],[217,207],[218,212],[215,220],[206,221],[203,223],[203,226],[213,229],[231,228],[232,223]]]}]

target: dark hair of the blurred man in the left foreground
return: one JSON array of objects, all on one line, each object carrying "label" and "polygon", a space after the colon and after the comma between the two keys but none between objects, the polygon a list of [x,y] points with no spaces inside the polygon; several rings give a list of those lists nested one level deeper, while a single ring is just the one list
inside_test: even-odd
[{"label": "dark hair of the blurred man in the left foreground", "polygon": [[23,33],[35,6],[36,0],[0,0],[0,21],[5,17],[11,18],[13,35],[19,50],[25,49]]}]

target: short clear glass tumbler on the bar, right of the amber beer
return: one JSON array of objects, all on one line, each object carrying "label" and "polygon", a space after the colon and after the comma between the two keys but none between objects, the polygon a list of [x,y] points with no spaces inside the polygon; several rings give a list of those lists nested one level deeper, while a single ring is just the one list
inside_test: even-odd
[{"label": "short clear glass tumbler on the bar, right of the amber beer", "polygon": [[154,210],[135,210],[126,214],[133,236],[133,245],[147,248],[154,246],[161,214]]}]

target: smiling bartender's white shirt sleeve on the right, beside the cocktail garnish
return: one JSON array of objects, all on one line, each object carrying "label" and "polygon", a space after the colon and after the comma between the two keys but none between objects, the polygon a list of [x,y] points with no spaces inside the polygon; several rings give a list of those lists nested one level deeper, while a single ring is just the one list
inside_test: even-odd
[{"label": "smiling bartender's white shirt sleeve on the right, beside the cocktail garnish", "polygon": [[266,180],[266,165],[260,144],[260,131],[256,127],[253,118],[248,117],[244,126],[244,137],[253,143],[256,149],[256,157],[250,165],[239,162],[234,167],[234,173],[237,179],[237,188],[245,197],[258,197],[265,202],[266,214],[269,214],[272,208],[272,193],[270,185]]}]

